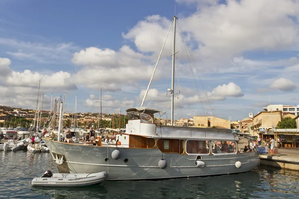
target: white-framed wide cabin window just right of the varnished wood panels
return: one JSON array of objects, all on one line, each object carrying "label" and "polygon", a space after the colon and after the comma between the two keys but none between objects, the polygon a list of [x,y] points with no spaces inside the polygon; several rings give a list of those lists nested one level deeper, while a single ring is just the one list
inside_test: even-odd
[{"label": "white-framed wide cabin window just right of the varnished wood panels", "polygon": [[208,140],[187,140],[187,154],[209,154],[210,142]]}]

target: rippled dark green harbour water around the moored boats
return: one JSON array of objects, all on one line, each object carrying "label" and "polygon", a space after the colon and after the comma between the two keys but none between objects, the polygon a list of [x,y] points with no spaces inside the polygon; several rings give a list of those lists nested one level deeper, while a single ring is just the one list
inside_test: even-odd
[{"label": "rippled dark green harbour water around the moored boats", "polygon": [[[252,172],[163,181],[104,182],[82,188],[36,188],[34,177],[50,168],[50,154],[1,152],[0,199],[298,199],[299,172],[259,167]],[[57,172],[52,163],[52,171]]]}]

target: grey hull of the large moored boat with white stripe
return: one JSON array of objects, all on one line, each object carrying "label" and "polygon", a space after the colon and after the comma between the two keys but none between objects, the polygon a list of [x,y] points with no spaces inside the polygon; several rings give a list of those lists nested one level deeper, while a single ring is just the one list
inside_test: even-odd
[{"label": "grey hull of the large moored boat with white stripe", "polygon": [[[47,142],[48,140],[44,140]],[[195,165],[196,155],[161,153],[158,149],[98,147],[52,141],[50,151],[60,173],[97,173],[106,171],[107,180],[150,180],[242,173],[259,165],[255,152],[200,155],[203,167]],[[113,159],[118,150],[120,158]],[[167,167],[159,168],[163,158]],[[109,161],[108,161],[109,159]],[[236,167],[236,162],[241,167]]]}]

